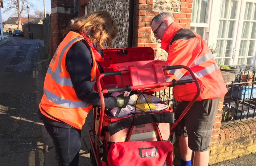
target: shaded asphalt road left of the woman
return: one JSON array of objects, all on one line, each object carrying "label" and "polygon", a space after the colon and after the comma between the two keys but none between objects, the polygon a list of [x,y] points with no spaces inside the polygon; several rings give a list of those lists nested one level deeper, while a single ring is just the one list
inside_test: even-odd
[{"label": "shaded asphalt road left of the woman", "polygon": [[0,45],[0,165],[43,166],[42,125],[37,111],[43,75],[41,44],[10,37]]}]

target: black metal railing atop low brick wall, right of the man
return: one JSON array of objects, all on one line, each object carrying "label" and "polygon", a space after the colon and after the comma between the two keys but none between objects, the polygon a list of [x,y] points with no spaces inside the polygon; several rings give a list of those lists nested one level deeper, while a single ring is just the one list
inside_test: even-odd
[{"label": "black metal railing atop low brick wall, right of the man", "polygon": [[[250,79],[250,80],[249,80]],[[253,119],[256,107],[255,71],[250,78],[249,73],[242,82],[242,72],[236,81],[227,83],[228,93],[225,95],[222,124]]]}]

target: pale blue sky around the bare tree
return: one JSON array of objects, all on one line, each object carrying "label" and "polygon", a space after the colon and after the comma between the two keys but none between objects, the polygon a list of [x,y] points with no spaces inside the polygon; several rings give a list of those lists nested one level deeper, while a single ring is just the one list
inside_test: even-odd
[{"label": "pale blue sky around the bare tree", "polygon": [[[3,0],[3,5],[5,7],[4,1],[5,0]],[[31,2],[34,3],[34,5],[36,6],[35,8],[37,10],[43,11],[43,0],[37,0],[37,1],[31,0]],[[51,0],[45,0],[45,8],[46,8],[46,11],[51,12]],[[2,11],[2,19],[7,20],[11,16],[11,13],[4,13],[4,9],[5,8],[2,8],[2,10],[1,10]],[[30,10],[29,13],[33,14],[34,11]]]}]

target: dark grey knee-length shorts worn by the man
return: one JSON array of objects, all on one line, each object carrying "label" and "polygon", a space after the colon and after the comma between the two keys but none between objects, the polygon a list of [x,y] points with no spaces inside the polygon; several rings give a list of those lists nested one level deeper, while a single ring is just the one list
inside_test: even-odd
[{"label": "dark grey knee-length shorts worn by the man", "polygon": [[[204,152],[209,149],[219,102],[219,98],[196,101],[180,121],[178,136],[188,137],[188,147],[192,151]],[[180,116],[189,103],[189,101],[178,102],[174,110],[175,119]]]}]

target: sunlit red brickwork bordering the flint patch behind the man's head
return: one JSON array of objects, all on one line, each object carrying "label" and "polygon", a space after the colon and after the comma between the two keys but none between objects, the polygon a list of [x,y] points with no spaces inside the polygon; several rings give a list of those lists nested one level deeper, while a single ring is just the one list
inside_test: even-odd
[{"label": "sunlit red brickwork bordering the flint patch behind the man's head", "polygon": [[[155,1],[153,0],[134,0],[133,47],[149,46],[155,50],[159,48],[159,44],[152,37],[150,27],[152,18],[159,14],[158,11],[153,11],[154,3]],[[190,28],[192,0],[181,0],[179,8],[180,12],[174,12],[175,22],[179,23],[183,28]],[[173,13],[173,11],[170,12]]]}]

